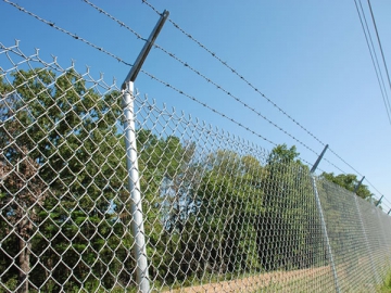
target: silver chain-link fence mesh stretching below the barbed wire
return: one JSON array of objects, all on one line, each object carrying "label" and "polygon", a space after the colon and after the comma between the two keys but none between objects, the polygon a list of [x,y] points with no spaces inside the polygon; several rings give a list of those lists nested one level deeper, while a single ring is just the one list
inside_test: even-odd
[{"label": "silver chain-link fence mesh stretching below the barbed wire", "polygon": [[115,85],[17,44],[0,66],[0,292],[371,292],[387,275],[390,218],[294,149],[137,95],[129,160]]}]

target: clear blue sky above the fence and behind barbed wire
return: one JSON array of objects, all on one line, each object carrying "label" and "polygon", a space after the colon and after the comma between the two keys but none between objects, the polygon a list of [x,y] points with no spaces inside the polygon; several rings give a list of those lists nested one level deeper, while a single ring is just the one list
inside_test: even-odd
[{"label": "clear blue sky above the fence and behind barbed wire", "polygon": [[[159,20],[159,15],[141,0],[92,2],[144,38]],[[17,3],[128,63],[134,63],[143,46],[142,40],[81,0],[18,0]],[[168,10],[174,22],[236,68],[319,140],[330,144],[337,154],[365,175],[391,202],[391,125],[353,0],[150,0],[150,3],[160,11]],[[386,60],[391,64],[391,2],[374,0],[371,4]],[[367,8],[366,1],[363,1],[363,5]],[[368,13],[366,16],[369,21]],[[34,48],[39,48],[43,60],[50,60],[51,54],[56,55],[63,67],[71,64],[71,59],[75,60],[78,72],[84,72],[85,65],[89,65],[94,77],[104,73],[108,82],[116,77],[118,85],[129,71],[128,66],[3,1],[0,2],[0,42],[12,46],[14,39],[18,39],[26,54],[33,54]],[[311,149],[318,153],[323,150],[319,142],[171,23],[166,23],[156,43]],[[302,158],[315,162],[315,154],[159,49],[151,51],[143,69],[276,143],[295,144]],[[273,148],[142,73],[138,76],[136,88],[142,94],[156,99],[157,103],[175,106],[268,150]],[[345,173],[356,174],[332,153],[327,152],[326,157]],[[327,162],[319,167],[340,173]],[[370,189],[377,198],[381,195]],[[391,204],[384,203],[383,206],[388,208]]]}]

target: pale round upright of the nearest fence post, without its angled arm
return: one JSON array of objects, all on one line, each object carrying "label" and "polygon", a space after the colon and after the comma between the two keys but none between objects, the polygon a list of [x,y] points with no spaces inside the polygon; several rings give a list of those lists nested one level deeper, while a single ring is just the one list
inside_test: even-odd
[{"label": "pale round upright of the nearest fence post, without its angled arm", "polygon": [[139,168],[136,145],[136,127],[134,113],[134,82],[126,85],[123,90],[123,109],[125,116],[125,146],[126,146],[126,167],[128,170],[128,184],[130,192],[130,213],[131,213],[131,234],[135,239],[136,257],[136,282],[142,293],[150,291],[148,278],[148,260],[146,249],[146,233],[143,228],[141,192],[139,180]]}]

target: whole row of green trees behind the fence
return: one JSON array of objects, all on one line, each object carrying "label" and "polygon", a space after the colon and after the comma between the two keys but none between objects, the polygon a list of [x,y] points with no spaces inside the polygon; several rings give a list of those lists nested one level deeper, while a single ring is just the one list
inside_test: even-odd
[{"label": "whole row of green trees behind the fence", "polygon": [[[136,290],[121,94],[76,72],[0,77],[0,292]],[[10,79],[10,78],[9,78]],[[149,276],[300,269],[326,262],[308,167],[137,130]],[[353,190],[354,175],[324,178]],[[369,198],[365,186],[357,195]]]}]

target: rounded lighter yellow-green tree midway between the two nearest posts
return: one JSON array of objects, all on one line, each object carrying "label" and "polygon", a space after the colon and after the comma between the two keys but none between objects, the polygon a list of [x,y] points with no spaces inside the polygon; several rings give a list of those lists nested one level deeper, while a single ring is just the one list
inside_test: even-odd
[{"label": "rounded lighter yellow-green tree midway between the two nearest posts", "polygon": [[251,156],[218,150],[211,153],[198,190],[199,267],[215,273],[260,268],[254,219],[263,209],[263,167]]}]

